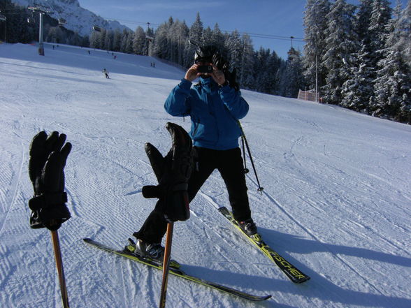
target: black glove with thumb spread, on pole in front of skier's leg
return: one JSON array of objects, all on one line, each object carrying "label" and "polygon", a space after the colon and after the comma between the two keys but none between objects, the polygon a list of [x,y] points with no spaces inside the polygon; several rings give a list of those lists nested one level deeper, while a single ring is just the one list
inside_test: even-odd
[{"label": "black glove with thumb spread, on pole in front of skier's leg", "polygon": [[187,182],[192,173],[192,140],[181,126],[167,123],[172,145],[163,157],[150,143],[145,144],[145,152],[159,184],[143,186],[145,198],[159,198],[156,210],[164,214],[168,222],[189,219],[189,199]]}]

